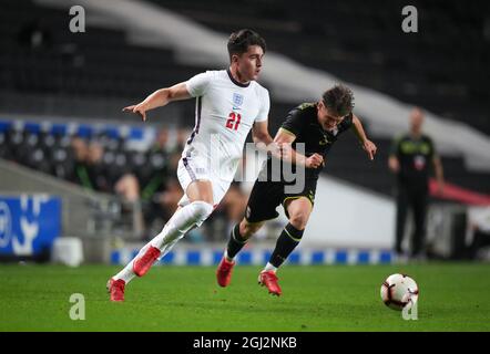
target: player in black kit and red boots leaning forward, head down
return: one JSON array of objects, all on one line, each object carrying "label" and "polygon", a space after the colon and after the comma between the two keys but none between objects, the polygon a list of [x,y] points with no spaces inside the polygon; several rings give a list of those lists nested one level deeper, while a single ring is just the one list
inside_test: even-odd
[{"label": "player in black kit and red boots leaning forward, head down", "polygon": [[[286,180],[283,173],[280,178],[274,178],[274,160],[267,159],[252,189],[245,217],[233,228],[218,264],[216,278],[221,287],[229,284],[234,258],[239,250],[266,220],[278,216],[276,208],[283,205],[289,223],[283,229],[269,261],[258,277],[258,283],[267,287],[269,293],[280,295],[276,271],[302,240],[313,210],[317,180],[331,145],[341,133],[353,128],[369,158],[374,159],[376,154],[376,145],[367,138],[359,118],[353,114],[353,92],[344,85],[336,85],[326,91],[318,102],[303,103],[288,113],[274,142],[289,147],[285,149],[289,157],[283,160],[289,160],[294,165],[292,167],[296,167],[296,175],[298,169],[304,168],[303,188],[290,191],[287,187],[292,187],[294,181]],[[302,143],[305,155],[297,152]]]}]

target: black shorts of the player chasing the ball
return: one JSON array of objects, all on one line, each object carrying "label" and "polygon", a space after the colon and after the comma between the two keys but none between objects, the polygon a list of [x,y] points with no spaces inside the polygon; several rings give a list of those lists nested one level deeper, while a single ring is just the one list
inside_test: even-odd
[{"label": "black shorts of the player chasing the ball", "polygon": [[282,205],[286,216],[288,216],[285,204],[287,200],[294,200],[302,197],[307,198],[315,204],[316,179],[306,179],[305,188],[299,192],[285,192],[285,184],[279,181],[258,181],[256,180],[248,197],[245,219],[248,222],[261,222],[275,219],[279,216],[276,208]]}]

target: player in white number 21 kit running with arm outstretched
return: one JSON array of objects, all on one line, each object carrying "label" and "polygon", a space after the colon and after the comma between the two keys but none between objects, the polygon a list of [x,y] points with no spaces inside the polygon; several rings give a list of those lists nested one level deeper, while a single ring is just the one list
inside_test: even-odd
[{"label": "player in white number 21 kit running with arm outstretched", "polygon": [[232,33],[227,70],[207,71],[172,87],[161,88],[140,104],[123,111],[139,114],[173,101],[196,98],[195,126],[178,162],[177,177],[184,190],[180,208],[163,230],[108,281],[111,301],[124,300],[124,288],[134,275],[143,277],[187,231],[213,212],[232,183],[248,132],[255,143],[273,143],[267,129],[268,91],[256,80],[266,50],[264,39],[251,30]]}]

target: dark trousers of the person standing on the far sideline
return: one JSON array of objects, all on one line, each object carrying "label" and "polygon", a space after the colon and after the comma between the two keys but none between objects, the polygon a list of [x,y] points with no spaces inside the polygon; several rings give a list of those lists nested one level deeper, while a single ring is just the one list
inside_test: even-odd
[{"label": "dark trousers of the person standing on the far sideline", "polygon": [[398,186],[397,190],[397,226],[395,250],[401,253],[401,242],[404,241],[405,223],[408,210],[414,212],[415,230],[411,239],[411,256],[420,253],[426,236],[426,216],[428,206],[427,188],[410,188]]}]

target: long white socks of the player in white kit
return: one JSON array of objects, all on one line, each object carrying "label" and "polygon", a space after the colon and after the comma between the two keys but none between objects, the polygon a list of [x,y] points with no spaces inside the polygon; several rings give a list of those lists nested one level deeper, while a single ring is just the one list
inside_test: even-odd
[{"label": "long white socks of the player in white kit", "polygon": [[154,237],[146,243],[124,267],[122,271],[113,277],[113,279],[122,279],[126,284],[135,277],[133,272],[133,262],[135,259],[142,257],[150,246],[153,246],[162,252],[159,260],[162,259],[173,248],[177,241],[185,236],[191,229],[200,227],[204,220],[213,212],[213,206],[205,201],[193,201],[190,205],[177,210],[172,218],[166,222],[162,232]]}]

